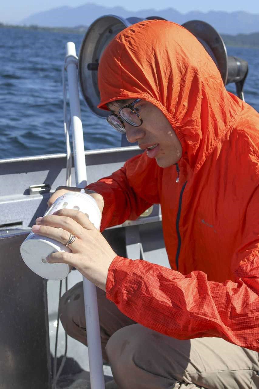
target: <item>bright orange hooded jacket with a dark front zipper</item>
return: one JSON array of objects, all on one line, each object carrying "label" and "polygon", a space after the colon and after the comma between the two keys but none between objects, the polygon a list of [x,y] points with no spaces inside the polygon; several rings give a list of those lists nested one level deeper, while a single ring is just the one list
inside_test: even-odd
[{"label": "bright orange hooded jacket with a dark front zipper", "polygon": [[172,267],[117,256],[107,297],[165,335],[219,336],[258,351],[259,115],[226,91],[198,40],[168,21],[119,33],[101,57],[98,82],[100,108],[147,100],[183,149],[177,166],[161,168],[144,152],[88,186],[104,197],[101,230],[160,203]]}]

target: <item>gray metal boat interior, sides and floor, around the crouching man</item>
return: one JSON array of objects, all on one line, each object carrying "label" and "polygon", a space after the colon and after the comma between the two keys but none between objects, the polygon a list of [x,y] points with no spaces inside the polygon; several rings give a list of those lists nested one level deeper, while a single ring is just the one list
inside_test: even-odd
[{"label": "gray metal boat interior, sides and floor, around the crouching man", "polygon": [[[135,146],[86,151],[87,182],[110,175],[140,152]],[[5,183],[0,193],[0,360],[6,361],[0,364],[0,377],[4,388],[51,389],[59,281],[47,281],[33,273],[23,262],[20,247],[35,219],[45,213],[50,193],[64,185],[65,177],[65,154],[0,161],[0,179]],[[120,256],[169,266],[158,204],[136,221],[108,228],[103,235]],[[68,275],[68,288],[81,280],[82,275],[73,270]],[[65,332],[60,324],[59,361],[64,352]],[[110,366],[103,369],[108,382],[112,379]],[[68,336],[67,359],[57,389],[89,385],[87,348]]]}]

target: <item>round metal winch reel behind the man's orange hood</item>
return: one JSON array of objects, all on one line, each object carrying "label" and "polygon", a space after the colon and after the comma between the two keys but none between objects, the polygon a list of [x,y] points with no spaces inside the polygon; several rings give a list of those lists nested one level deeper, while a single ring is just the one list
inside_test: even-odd
[{"label": "round metal winch reel behind the man's orange hood", "polygon": [[[142,20],[163,19],[158,16],[142,18],[120,18],[115,15],[105,15],[96,19],[89,26],[82,41],[79,53],[79,81],[84,100],[91,111],[99,117],[107,117],[109,112],[97,108],[100,102],[97,70],[101,55],[108,43],[124,28]],[[165,19],[163,19],[165,20]],[[228,56],[226,46],[217,31],[208,23],[191,20],[184,26],[200,41],[212,57],[221,73],[224,84],[235,82],[239,98],[244,100],[243,84],[248,73],[247,61]]]}]

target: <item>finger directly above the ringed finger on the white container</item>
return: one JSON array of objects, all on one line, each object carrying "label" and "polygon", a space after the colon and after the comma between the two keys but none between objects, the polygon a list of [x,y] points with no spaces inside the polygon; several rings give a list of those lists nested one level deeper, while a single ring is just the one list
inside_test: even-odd
[{"label": "finger directly above the ringed finger on the white container", "polygon": [[[73,212],[77,212],[72,210]],[[41,226],[50,226],[55,228],[62,228],[68,232],[73,233],[76,237],[80,238],[84,233],[84,228],[68,216],[59,216],[59,215],[48,215],[44,217],[38,217],[36,219],[36,224]]]}]

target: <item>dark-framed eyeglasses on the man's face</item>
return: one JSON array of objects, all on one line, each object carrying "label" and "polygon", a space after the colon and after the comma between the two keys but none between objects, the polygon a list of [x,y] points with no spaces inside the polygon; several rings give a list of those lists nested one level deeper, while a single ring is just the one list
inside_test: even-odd
[{"label": "dark-framed eyeglasses on the man's face", "polygon": [[134,109],[134,105],[141,101],[140,98],[134,100],[131,104],[124,105],[119,109],[118,115],[111,114],[107,116],[107,122],[118,132],[121,134],[126,134],[125,126],[123,121],[131,124],[131,126],[139,127],[143,123],[143,120],[139,116],[137,112],[137,107]]}]

